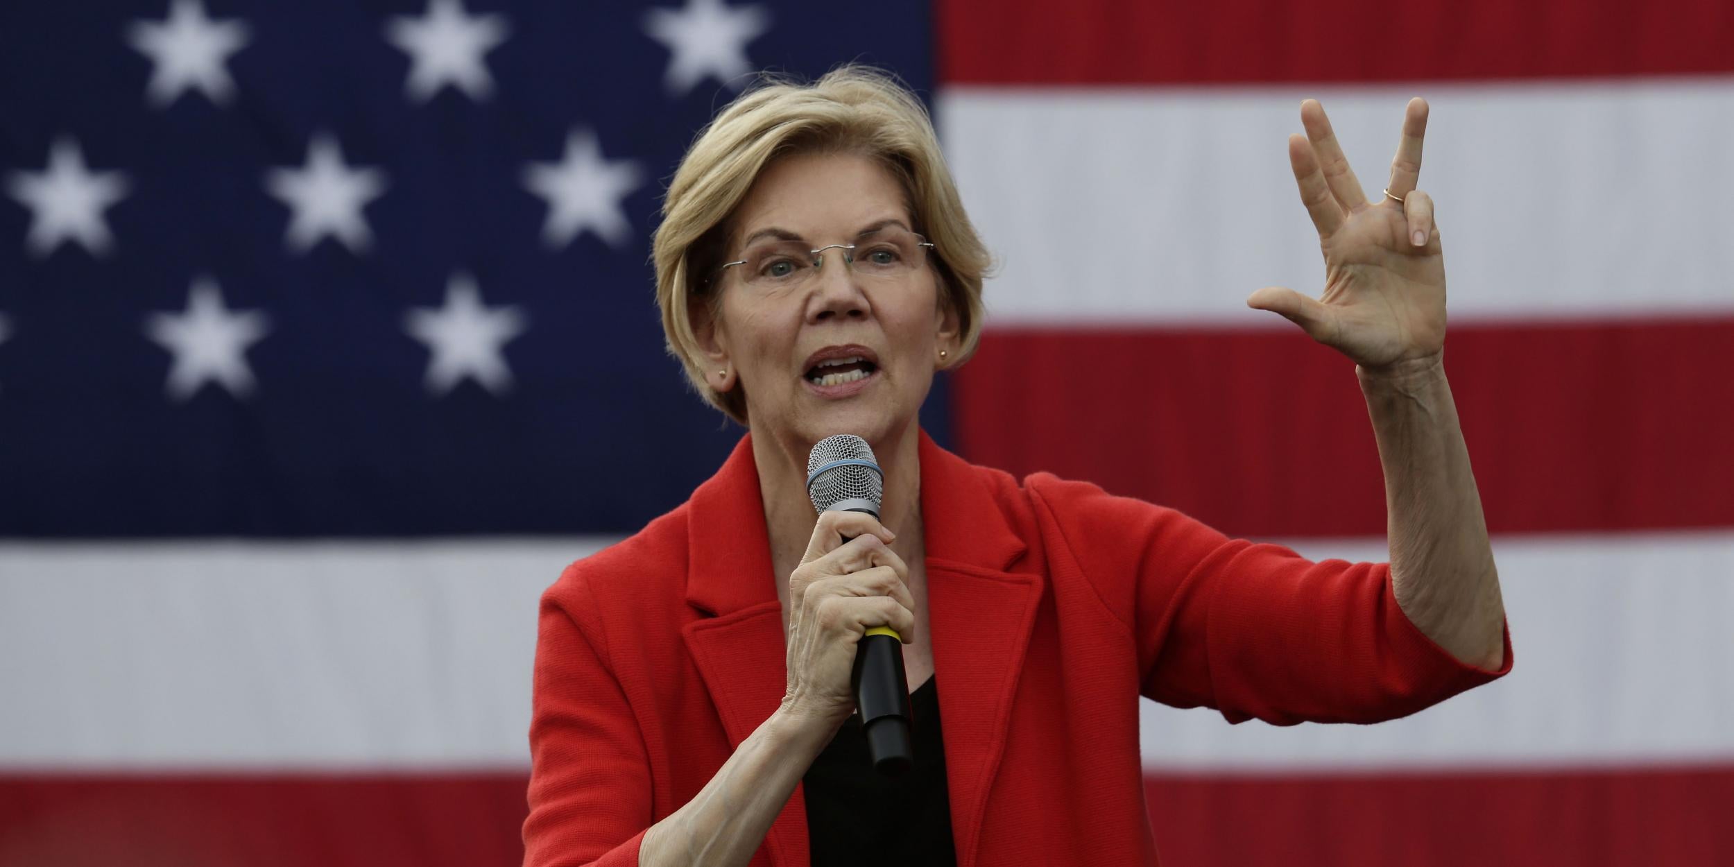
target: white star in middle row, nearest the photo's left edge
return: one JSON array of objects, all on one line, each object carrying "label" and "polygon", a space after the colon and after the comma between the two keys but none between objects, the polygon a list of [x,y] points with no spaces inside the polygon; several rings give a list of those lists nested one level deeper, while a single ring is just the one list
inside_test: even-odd
[{"label": "white star in middle row, nearest the photo's left edge", "polygon": [[76,139],[55,139],[49,146],[49,166],[12,172],[5,189],[31,212],[24,246],[33,255],[45,257],[64,241],[78,241],[101,257],[114,244],[102,210],[127,198],[127,175],[85,168],[85,153]]}]

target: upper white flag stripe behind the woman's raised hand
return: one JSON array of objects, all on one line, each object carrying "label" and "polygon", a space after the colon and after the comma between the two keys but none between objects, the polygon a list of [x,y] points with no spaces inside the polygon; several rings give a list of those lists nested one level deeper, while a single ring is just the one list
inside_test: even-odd
[{"label": "upper white flag stripe behind the woman's raised hand", "polygon": [[1375,199],[1403,106],[1432,114],[1451,316],[1734,310],[1734,80],[1257,88],[948,87],[940,135],[1001,276],[994,323],[1214,321],[1261,286],[1316,295],[1285,140],[1330,113]]}]

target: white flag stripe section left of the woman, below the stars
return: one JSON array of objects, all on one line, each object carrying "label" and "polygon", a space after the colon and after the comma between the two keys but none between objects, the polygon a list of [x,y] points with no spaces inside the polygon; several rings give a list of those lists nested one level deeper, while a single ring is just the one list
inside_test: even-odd
[{"label": "white flag stripe section left of the woman, below the stars", "polygon": [[614,539],[0,544],[0,766],[529,766],[536,605]]}]

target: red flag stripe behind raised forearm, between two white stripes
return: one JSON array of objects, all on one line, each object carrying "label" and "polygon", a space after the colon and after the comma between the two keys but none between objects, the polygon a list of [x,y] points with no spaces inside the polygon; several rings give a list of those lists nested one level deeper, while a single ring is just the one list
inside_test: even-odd
[{"label": "red flag stripe behind raised forearm, between two white stripes", "polygon": [[[1463,324],[1446,375],[1495,532],[1734,525],[1734,319]],[[957,444],[1238,536],[1385,532],[1354,366],[1297,329],[990,329]]]}]

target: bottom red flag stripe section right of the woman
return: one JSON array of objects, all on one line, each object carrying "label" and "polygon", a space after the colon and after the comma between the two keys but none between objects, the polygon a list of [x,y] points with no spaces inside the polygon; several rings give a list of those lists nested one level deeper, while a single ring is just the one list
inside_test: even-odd
[{"label": "bottom red flag stripe section right of the woman", "polygon": [[1734,766],[1144,780],[1167,865],[1734,864]]}]

